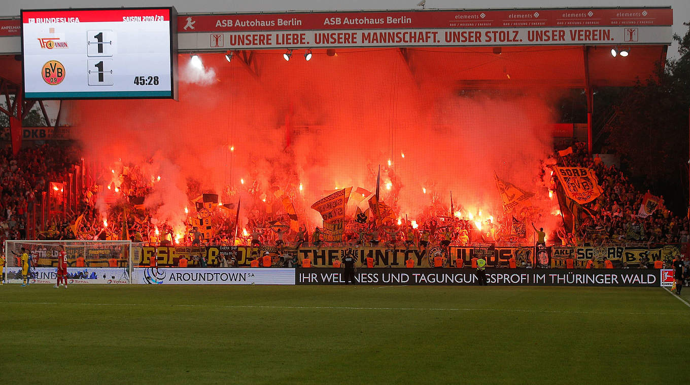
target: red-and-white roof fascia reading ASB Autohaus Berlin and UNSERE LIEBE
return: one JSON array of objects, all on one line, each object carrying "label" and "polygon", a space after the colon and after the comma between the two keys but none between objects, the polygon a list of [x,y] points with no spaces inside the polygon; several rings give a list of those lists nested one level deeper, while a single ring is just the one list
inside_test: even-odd
[{"label": "red-and-white roof fascia reading ASB Autohaus Berlin and UNSERE LIEBE", "polygon": [[671,8],[185,15],[186,49],[670,44]]}]

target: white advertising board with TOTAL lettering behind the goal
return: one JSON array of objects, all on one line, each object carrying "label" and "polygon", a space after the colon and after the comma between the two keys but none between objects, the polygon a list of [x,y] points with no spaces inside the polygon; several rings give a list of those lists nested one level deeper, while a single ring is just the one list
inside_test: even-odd
[{"label": "white advertising board with TOTAL lettering behind the goal", "polygon": [[[6,267],[8,283],[22,283],[21,267]],[[68,267],[68,284],[128,284],[129,273],[124,267]],[[57,283],[56,267],[34,267],[29,283]]]}]

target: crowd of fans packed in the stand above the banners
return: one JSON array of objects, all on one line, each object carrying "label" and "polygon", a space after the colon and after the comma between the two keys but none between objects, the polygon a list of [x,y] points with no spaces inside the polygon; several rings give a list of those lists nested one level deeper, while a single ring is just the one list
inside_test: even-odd
[{"label": "crowd of fans packed in the stand above the banners", "polygon": [[[556,156],[558,164],[568,167],[589,167],[595,170],[603,194],[593,202],[584,205],[591,214],[580,223],[575,233],[554,231],[558,236],[549,236],[549,243],[570,245],[600,244],[664,244],[688,242],[689,223],[687,218],[673,215],[663,205],[651,216],[638,215],[644,194],[636,190],[628,178],[615,166],[606,165],[600,158],[586,154],[582,145],[575,145],[573,153]],[[1,211],[0,227],[3,240],[26,239],[28,218],[34,205],[48,189],[51,181],[66,180],[79,158],[77,147],[70,145],[41,145],[22,149],[12,156],[9,149],[1,152],[0,185]],[[330,233],[322,228],[306,229],[290,227],[286,216],[269,218],[260,210],[247,210],[246,224],[235,226],[232,211],[214,210],[209,215],[214,223],[214,232],[204,237],[197,226],[186,221],[184,228],[173,229],[165,222],[151,218],[141,203],[151,190],[150,176],[139,167],[124,167],[119,183],[107,185],[96,183],[80,192],[79,204],[66,211],[63,216],[45,218],[43,226],[37,224],[34,236],[39,239],[57,240],[110,240],[128,238],[135,242],[202,245],[202,244],[270,244],[282,247],[286,244],[323,245],[329,244]],[[115,174],[115,171],[113,170]],[[155,179],[155,178],[154,178]],[[103,196],[119,190],[119,200],[103,204]],[[663,198],[663,197],[661,197]],[[106,211],[104,211],[106,210]],[[447,208],[428,213],[417,221],[403,219],[377,224],[371,220],[359,221],[351,218],[344,224],[342,240],[337,244],[349,246],[380,245],[388,248],[428,247],[438,244],[442,247],[466,246],[473,242],[499,240],[505,229],[504,218],[491,218],[477,225],[474,220],[457,216],[439,215]],[[103,214],[106,216],[103,216]],[[529,223],[529,222],[526,222]],[[524,225],[524,224],[523,224]],[[531,234],[530,227],[526,233]],[[547,231],[549,231],[547,230]],[[526,241],[526,242],[524,242]],[[536,241],[536,240],[534,240]],[[511,244],[520,240],[511,240]],[[531,240],[522,240],[530,244]]]}]

